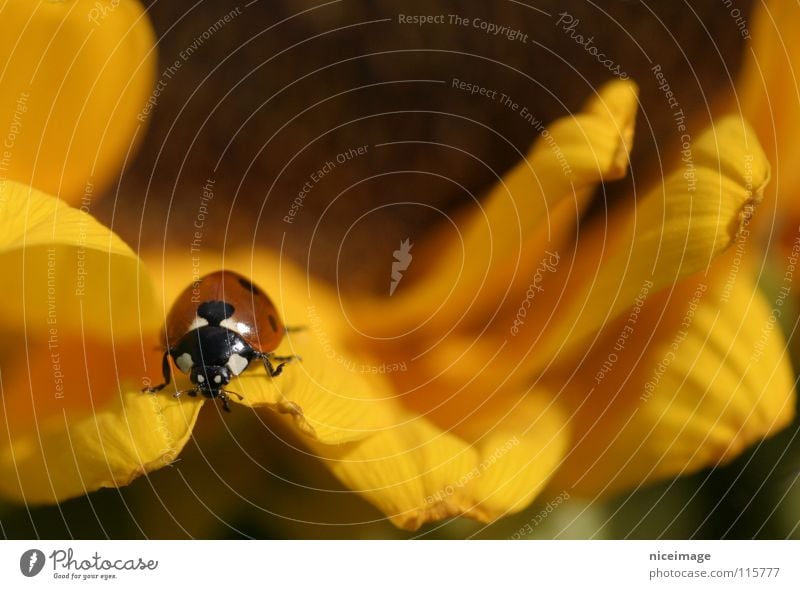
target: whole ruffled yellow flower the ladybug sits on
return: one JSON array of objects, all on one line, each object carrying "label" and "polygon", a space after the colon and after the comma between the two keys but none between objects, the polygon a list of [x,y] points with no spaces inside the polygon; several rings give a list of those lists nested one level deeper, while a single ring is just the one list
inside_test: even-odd
[{"label": "whole ruffled yellow flower the ladybug sits on", "polygon": [[306,327],[276,350],[302,362],[231,384],[240,405],[284,415],[400,527],[730,460],[793,416],[774,312],[730,250],[769,165],[725,117],[693,138],[691,167],[583,221],[597,187],[626,173],[636,107],[618,81],[554,122],[457,232],[401,246],[379,299],[340,300],[249,244],[199,260],[142,252],[145,264],[88,214],[3,182],[0,493],[62,501],[177,457],[204,401],[169,394],[189,386],[180,374],[140,390],[160,379],[175,296],[221,267]]}]

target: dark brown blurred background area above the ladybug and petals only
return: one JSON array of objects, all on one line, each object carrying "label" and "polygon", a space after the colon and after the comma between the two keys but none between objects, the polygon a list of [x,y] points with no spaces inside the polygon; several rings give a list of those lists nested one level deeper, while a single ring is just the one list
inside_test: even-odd
[{"label": "dark brown blurred background area above the ladybug and petals only", "polygon": [[[124,207],[116,228],[129,243],[139,243],[136,211],[141,247],[188,247],[212,178],[204,245],[276,247],[285,238],[286,253],[305,260],[310,252],[312,270],[346,290],[383,293],[397,243],[443,221],[437,209],[468,206],[537,137],[499,100],[452,88],[453,78],[505,93],[546,124],[612,79],[571,35],[593,37],[641,88],[632,174],[639,181],[658,171],[659,150],[674,153],[669,144],[678,139],[652,65],[662,65],[697,130],[729,96],[744,48],[719,0],[245,4],[150,4],[161,72],[181,65],[163,78],[145,145],[117,198],[94,212],[110,221],[114,207]],[[749,2],[738,5],[748,11]],[[181,57],[237,8],[240,15]],[[580,21],[572,33],[556,25],[565,10]],[[399,24],[399,14],[480,17],[526,33],[528,42],[473,27]],[[310,174],[361,145],[367,154],[338,165],[294,223],[284,223]]]}]

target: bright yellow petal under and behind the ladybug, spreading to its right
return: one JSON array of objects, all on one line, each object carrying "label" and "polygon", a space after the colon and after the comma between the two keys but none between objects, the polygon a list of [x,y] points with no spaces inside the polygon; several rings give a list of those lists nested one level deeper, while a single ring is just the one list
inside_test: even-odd
[{"label": "bright yellow petal under and behind the ladybug, spreading to its right", "polygon": [[[153,256],[151,269],[157,257]],[[155,274],[164,279],[168,309],[199,274],[191,259],[176,255],[165,264],[164,271]],[[289,414],[304,434],[328,444],[361,439],[392,422],[393,389],[381,366],[347,348],[335,295],[324,284],[267,252],[233,251],[224,257],[208,252],[203,264],[203,273],[224,267],[248,276],[269,294],[287,325],[303,328],[287,334],[274,350],[279,356],[298,355],[301,360],[291,362],[274,378],[267,376],[263,366],[251,366],[228,387],[244,397],[240,401],[232,396],[232,401]],[[151,339],[157,341],[157,333]],[[180,390],[190,385],[178,373],[175,386]]]}]

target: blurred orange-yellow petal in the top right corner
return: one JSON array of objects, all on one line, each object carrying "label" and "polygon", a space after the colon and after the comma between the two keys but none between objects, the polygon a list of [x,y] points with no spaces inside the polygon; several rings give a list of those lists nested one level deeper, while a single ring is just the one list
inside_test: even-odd
[{"label": "blurred orange-yellow petal in the top right corner", "polygon": [[[800,214],[800,6],[783,0],[758,2],[750,22],[750,47],[732,109],[752,123],[772,162],[775,180],[760,223],[780,231],[785,223],[796,225]],[[771,200],[776,195],[780,212]]]}]

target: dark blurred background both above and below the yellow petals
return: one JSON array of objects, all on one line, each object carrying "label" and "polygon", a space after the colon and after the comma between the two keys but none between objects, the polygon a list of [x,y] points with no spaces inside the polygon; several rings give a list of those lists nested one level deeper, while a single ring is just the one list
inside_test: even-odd
[{"label": "dark blurred background both above and below the yellow petals", "polygon": [[[93,209],[140,249],[187,248],[202,186],[215,181],[204,245],[271,247],[310,260],[345,291],[383,292],[392,251],[473,199],[519,161],[537,130],[453,78],[505,93],[540,121],[577,110],[612,78],[556,25],[602,49],[641,89],[632,173],[598,191],[596,214],[657,179],[678,137],[651,71],[662,66],[691,129],[730,97],[744,40],[719,0],[149,2],[167,81],[135,160]],[[750,1],[734,6],[748,15]],[[234,11],[233,13],[231,11]],[[398,14],[459,14],[528,35],[398,23]],[[230,22],[202,38],[215,22]],[[447,18],[447,17],[445,17]],[[196,49],[188,58],[188,47]],[[387,144],[387,145],[380,145]],[[309,176],[337,164],[283,221]],[[594,213],[592,212],[594,211]],[[269,416],[262,416],[270,420]],[[492,526],[456,520],[397,531],[313,457],[291,450],[279,423],[203,411],[172,467],[129,487],[59,506],[0,504],[7,538],[507,538],[543,508]],[[235,436],[230,431],[236,432]],[[605,503],[567,502],[529,537],[800,538],[797,429],[733,465]]]}]

